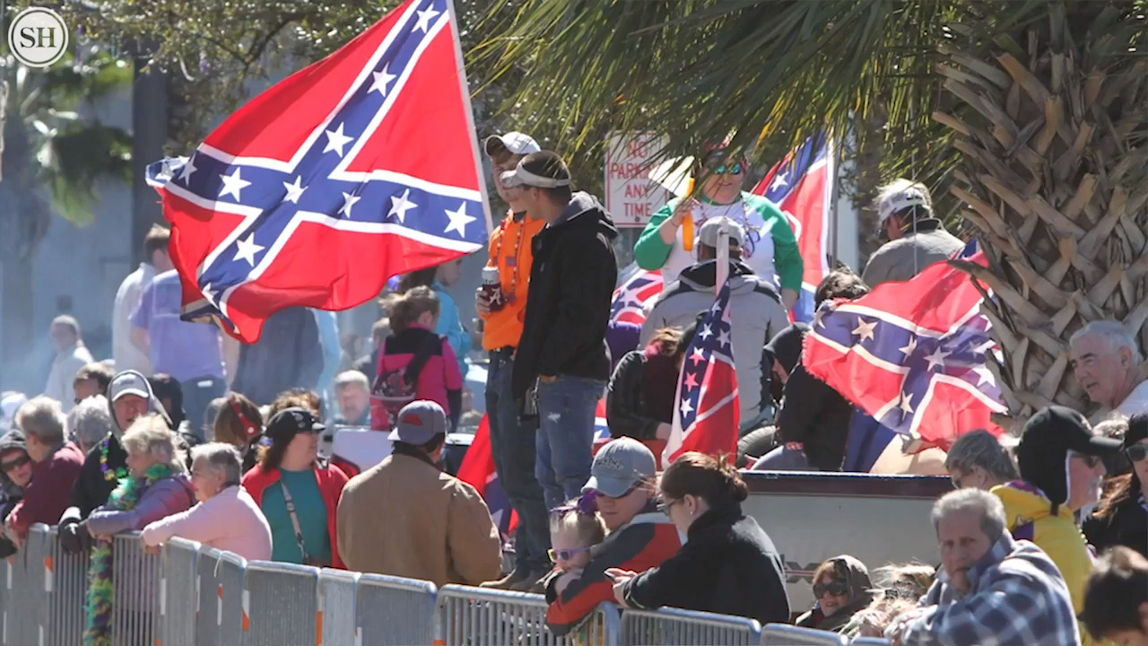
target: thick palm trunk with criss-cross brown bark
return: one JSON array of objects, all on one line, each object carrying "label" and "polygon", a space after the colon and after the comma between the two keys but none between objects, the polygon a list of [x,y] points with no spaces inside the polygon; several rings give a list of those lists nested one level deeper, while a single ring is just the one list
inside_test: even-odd
[{"label": "thick palm trunk with criss-cross brown bark", "polygon": [[983,309],[1003,362],[991,369],[1014,431],[1049,403],[1089,408],[1069,364],[1085,323],[1122,321],[1148,345],[1143,25],[1133,2],[1050,2],[988,41],[956,25],[941,47],[960,105],[933,118],[956,132],[951,191],[990,260],[959,264],[992,291]]}]

